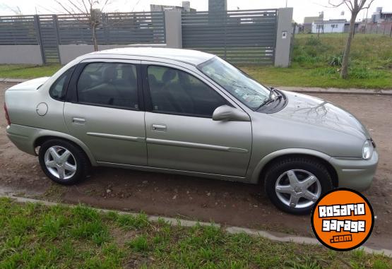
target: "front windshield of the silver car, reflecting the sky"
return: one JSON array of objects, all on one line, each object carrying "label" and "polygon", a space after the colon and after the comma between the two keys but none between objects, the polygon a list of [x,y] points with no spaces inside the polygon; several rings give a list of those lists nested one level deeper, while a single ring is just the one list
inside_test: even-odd
[{"label": "front windshield of the silver car, reflecting the sky", "polygon": [[219,57],[200,64],[198,68],[251,109],[258,109],[268,100],[270,90]]}]

